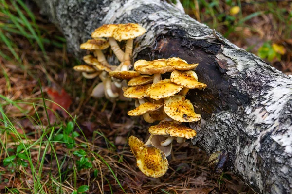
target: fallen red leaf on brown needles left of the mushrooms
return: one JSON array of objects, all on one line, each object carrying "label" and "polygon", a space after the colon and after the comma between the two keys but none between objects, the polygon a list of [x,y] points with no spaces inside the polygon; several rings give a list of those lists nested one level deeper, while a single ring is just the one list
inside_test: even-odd
[{"label": "fallen red leaf on brown needles left of the mushrooms", "polygon": [[[55,103],[51,103],[50,104],[50,108],[53,111],[60,111],[60,113],[67,118],[68,114],[66,113],[66,111],[68,111],[71,103],[72,103],[72,99],[69,96],[69,94],[67,94],[67,92],[62,89],[61,94],[58,93],[58,91],[54,90],[53,88],[49,88],[47,91],[48,96],[51,98],[52,101],[54,101]],[[65,110],[63,110],[61,107],[63,107]]]}]

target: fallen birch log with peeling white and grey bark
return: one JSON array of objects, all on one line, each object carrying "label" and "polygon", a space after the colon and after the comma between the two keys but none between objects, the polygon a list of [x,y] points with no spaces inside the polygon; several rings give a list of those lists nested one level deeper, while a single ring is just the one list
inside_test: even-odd
[{"label": "fallen birch log with peeling white and grey bark", "polygon": [[[160,0],[36,0],[81,57],[102,24],[139,23],[135,60],[177,56],[199,63],[204,91],[187,98],[202,114],[192,140],[228,154],[228,167],[258,193],[292,194],[292,78]],[[113,57],[109,57],[111,63]]]}]

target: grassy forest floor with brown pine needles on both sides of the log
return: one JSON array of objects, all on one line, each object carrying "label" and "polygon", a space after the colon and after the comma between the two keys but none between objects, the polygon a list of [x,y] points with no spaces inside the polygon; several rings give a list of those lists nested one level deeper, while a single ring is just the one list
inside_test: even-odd
[{"label": "grassy forest floor with brown pine needles on both sides of the log", "polygon": [[[91,98],[99,80],[73,71],[80,61],[36,5],[0,6],[0,193],[253,193],[232,172],[213,174],[206,153],[187,142],[173,146],[163,177],[143,175],[127,142],[130,135],[145,141],[149,124],[127,115],[134,103]],[[292,74],[291,1],[183,0],[183,6]]]}]

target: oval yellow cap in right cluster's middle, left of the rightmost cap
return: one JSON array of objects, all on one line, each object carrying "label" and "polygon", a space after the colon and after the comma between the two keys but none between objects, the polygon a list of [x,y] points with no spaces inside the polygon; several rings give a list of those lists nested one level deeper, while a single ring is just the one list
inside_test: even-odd
[{"label": "oval yellow cap in right cluster's middle, left of the rightmost cap", "polygon": [[170,79],[164,79],[152,84],[146,91],[147,95],[152,99],[161,99],[171,97],[183,89],[183,86],[176,85]]}]

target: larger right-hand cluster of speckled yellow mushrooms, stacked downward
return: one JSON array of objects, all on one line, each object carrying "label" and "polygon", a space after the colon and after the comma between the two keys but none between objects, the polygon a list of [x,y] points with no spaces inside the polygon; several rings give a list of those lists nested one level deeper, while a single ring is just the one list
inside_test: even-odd
[{"label": "larger right-hand cluster of speckled yellow mushrooms, stacked downward", "polygon": [[[134,136],[129,138],[137,166],[147,176],[161,177],[166,173],[166,157],[171,154],[174,139],[183,143],[196,136],[196,131],[182,122],[201,119],[201,115],[195,113],[192,103],[185,99],[189,89],[206,88],[206,84],[198,82],[197,74],[193,71],[197,66],[177,57],[138,60],[134,69],[148,75],[132,78],[128,82],[129,87],[123,88],[125,97],[136,99],[136,108],[128,111],[128,115],[142,115],[149,123],[160,121],[158,125],[149,128],[151,135],[145,144]],[[161,74],[166,72],[171,72],[170,79],[162,80]]]}]

